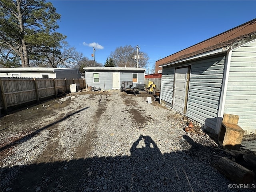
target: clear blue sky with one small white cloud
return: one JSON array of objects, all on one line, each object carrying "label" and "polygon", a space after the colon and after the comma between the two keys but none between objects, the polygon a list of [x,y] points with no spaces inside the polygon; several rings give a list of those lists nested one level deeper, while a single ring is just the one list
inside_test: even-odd
[{"label": "clear blue sky with one small white cloud", "polygon": [[[50,0],[57,32],[78,52],[104,64],[120,46],[140,47],[150,69],[164,58],[256,18],[256,1]],[[148,68],[148,66],[146,67]]]}]

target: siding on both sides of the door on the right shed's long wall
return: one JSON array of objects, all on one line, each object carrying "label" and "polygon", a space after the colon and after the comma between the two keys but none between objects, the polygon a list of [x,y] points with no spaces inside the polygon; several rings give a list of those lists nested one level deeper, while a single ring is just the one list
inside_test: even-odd
[{"label": "siding on both sides of the door on the right shed's long wall", "polygon": [[191,65],[186,116],[216,129],[225,56],[166,66],[162,70],[161,103],[172,106],[175,67]]}]

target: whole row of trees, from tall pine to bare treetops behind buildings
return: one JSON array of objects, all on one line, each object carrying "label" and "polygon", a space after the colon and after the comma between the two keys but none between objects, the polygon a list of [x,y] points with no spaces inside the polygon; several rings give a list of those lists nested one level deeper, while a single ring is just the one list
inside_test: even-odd
[{"label": "whole row of trees, from tall pine to bare treetops behind buildings", "polygon": [[[136,47],[120,46],[104,64],[90,60],[71,47],[65,35],[56,32],[60,14],[46,0],[0,1],[0,62],[6,67],[136,67]],[[140,51],[138,67],[148,64]]]}]

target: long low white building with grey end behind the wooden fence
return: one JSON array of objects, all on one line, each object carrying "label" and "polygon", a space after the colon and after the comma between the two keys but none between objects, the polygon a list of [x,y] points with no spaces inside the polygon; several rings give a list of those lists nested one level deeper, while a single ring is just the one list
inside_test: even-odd
[{"label": "long low white building with grey end behind the wooden fence", "polygon": [[16,67],[0,68],[0,77],[81,78],[78,68]]}]

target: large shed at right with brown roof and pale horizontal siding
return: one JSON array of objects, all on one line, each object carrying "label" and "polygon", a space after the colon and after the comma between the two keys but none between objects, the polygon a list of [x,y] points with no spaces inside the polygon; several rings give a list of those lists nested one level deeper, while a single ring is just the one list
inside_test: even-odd
[{"label": "large shed at right with brown roof and pale horizontal siding", "polygon": [[156,61],[160,103],[218,134],[223,114],[256,134],[256,19]]}]

